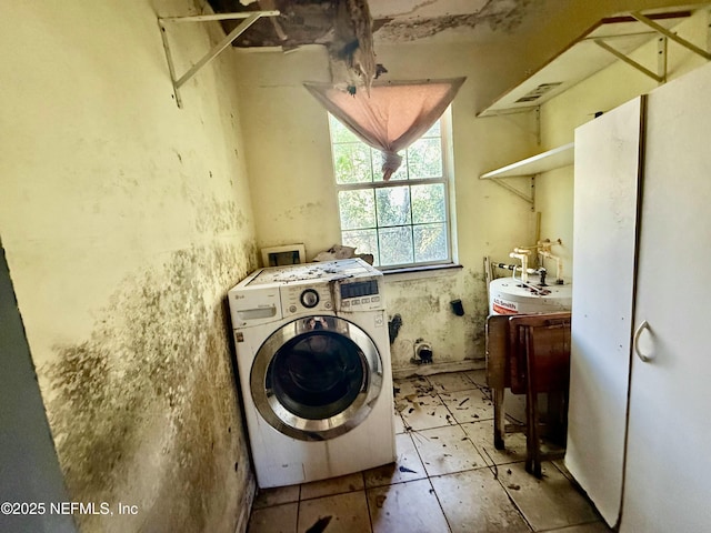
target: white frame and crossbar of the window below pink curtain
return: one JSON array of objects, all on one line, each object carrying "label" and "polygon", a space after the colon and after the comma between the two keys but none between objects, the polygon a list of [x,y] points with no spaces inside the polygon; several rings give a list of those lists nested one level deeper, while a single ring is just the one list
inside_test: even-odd
[{"label": "white frame and crossbar of the window below pink curtain", "polygon": [[[334,119],[338,120],[338,119]],[[333,138],[330,137],[330,145],[331,145],[331,168],[333,170],[333,182],[336,183],[336,202],[339,212],[339,230],[341,235],[343,234],[343,229],[340,227],[341,218],[340,218],[340,204],[339,204],[339,192],[341,191],[352,191],[352,190],[377,190],[377,189],[387,189],[387,188],[395,188],[402,185],[415,185],[415,184],[431,184],[431,183],[442,183],[444,185],[444,227],[447,231],[447,258],[438,261],[420,261],[420,262],[410,262],[410,263],[400,263],[400,264],[380,264],[380,258],[375,258],[375,265],[378,269],[382,271],[389,270],[403,270],[403,269],[418,269],[418,268],[432,268],[432,266],[448,266],[454,264],[455,261],[455,247],[454,247],[454,219],[453,219],[453,189],[454,189],[454,179],[453,179],[453,165],[452,165],[452,139],[451,139],[451,108],[447,108],[442,117],[439,119],[440,121],[440,140],[441,140],[441,157],[442,157],[442,177],[441,178],[421,178],[421,179],[408,179],[408,180],[390,180],[390,181],[371,181],[364,183],[338,183],[336,179],[336,161],[333,154]],[[364,143],[363,143],[364,144]],[[404,154],[401,152],[401,155]],[[372,157],[372,151],[371,151]],[[372,164],[371,164],[372,168]],[[410,207],[412,200],[410,199]],[[375,210],[377,210],[375,205]],[[377,215],[375,215],[375,227],[373,228],[375,231],[379,230],[377,225]],[[417,227],[417,223],[410,222],[409,224],[403,224],[409,227]],[[346,230],[351,231],[351,230]],[[341,237],[342,239],[342,237]],[[348,245],[348,243],[342,243]],[[379,247],[380,249],[380,247]],[[365,250],[356,250],[356,253],[368,253]]]}]

